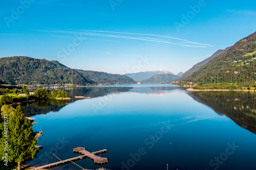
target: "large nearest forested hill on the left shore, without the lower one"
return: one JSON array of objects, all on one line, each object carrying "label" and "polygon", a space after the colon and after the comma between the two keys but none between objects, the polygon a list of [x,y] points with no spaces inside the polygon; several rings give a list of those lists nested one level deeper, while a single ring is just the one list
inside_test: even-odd
[{"label": "large nearest forested hill on the left shore, without the lower one", "polygon": [[0,58],[0,82],[27,85],[88,85],[94,83],[58,61],[25,56]]}]

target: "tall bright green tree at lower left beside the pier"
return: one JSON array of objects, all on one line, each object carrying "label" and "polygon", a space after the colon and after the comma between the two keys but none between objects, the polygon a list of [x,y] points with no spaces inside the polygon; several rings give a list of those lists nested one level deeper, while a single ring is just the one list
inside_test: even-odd
[{"label": "tall bright green tree at lower left beside the pier", "polygon": [[[32,124],[29,119],[25,118],[24,110],[19,105],[8,120],[7,135],[2,132],[2,135],[8,140],[8,159],[10,162],[18,164],[20,169],[20,162],[27,158],[33,159],[37,148],[35,147],[37,139],[33,133]],[[1,139],[1,148],[4,148],[5,140]]]}]

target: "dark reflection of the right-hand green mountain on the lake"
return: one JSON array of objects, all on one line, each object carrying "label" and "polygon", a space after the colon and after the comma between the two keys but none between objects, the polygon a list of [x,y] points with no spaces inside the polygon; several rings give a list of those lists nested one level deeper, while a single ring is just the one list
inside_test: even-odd
[{"label": "dark reflection of the right-hand green mountain on the lake", "polygon": [[200,91],[191,92],[189,95],[256,134],[256,95],[254,93]]}]

